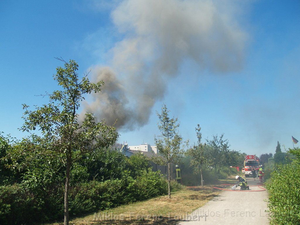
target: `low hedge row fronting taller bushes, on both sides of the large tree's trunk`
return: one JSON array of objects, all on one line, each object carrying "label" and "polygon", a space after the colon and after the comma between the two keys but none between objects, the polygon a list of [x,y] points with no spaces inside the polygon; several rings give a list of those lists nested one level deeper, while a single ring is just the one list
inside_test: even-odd
[{"label": "low hedge row fronting taller bushes, on both sides of the large tree's trunk", "polygon": [[[112,208],[118,205],[167,194],[167,182],[159,172],[143,170],[135,179],[129,171],[121,179],[90,181],[70,187],[70,215]],[[0,186],[0,224],[34,224],[63,218],[64,187],[46,190],[43,195],[26,191],[22,184]]]}]

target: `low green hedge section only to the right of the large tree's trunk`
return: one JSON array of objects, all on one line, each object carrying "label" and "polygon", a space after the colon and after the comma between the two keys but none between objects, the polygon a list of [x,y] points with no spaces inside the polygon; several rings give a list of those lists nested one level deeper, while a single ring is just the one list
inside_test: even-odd
[{"label": "low green hedge section only to the right of the large tree's trunk", "polygon": [[136,179],[128,170],[122,175],[121,179],[92,181],[71,188],[70,214],[108,209],[167,193],[167,182],[159,172],[143,170]]}]

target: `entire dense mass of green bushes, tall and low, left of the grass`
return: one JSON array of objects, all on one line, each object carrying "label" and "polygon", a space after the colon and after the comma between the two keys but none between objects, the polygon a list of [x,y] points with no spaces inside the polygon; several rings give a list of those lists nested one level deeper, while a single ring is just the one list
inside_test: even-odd
[{"label": "entire dense mass of green bushes, tall and low, left of the grass", "polygon": [[[17,166],[5,169],[13,180],[7,186],[0,186],[0,224],[33,224],[62,219],[65,168],[60,159],[49,159],[38,152],[19,156],[18,148],[26,146],[22,143],[7,146],[5,140],[0,140],[0,155],[17,159]],[[3,163],[0,162],[0,172],[4,171]],[[166,194],[166,180],[149,167],[148,160],[142,155],[127,159],[120,152],[106,149],[84,155],[71,165],[70,215]]]}]

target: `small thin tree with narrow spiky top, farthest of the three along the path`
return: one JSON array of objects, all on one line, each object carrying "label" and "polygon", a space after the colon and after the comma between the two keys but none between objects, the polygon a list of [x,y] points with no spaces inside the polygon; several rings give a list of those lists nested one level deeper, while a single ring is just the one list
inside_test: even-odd
[{"label": "small thin tree with narrow spiky top, farthest of the three along the path", "polygon": [[204,149],[206,144],[201,143],[201,127],[198,124],[196,129],[197,135],[197,145],[194,145],[192,148],[188,149],[186,155],[193,157],[191,160],[191,165],[199,167],[201,174],[201,186],[203,187],[203,176],[202,176],[202,167],[203,165],[208,164],[208,161],[204,155]]}]

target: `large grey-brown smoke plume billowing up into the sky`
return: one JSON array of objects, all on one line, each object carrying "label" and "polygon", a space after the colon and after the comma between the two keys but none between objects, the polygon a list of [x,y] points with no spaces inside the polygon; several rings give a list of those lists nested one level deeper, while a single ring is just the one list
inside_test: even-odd
[{"label": "large grey-brown smoke plume billowing up into the sky", "polygon": [[148,122],[155,101],[164,97],[168,80],[185,59],[212,72],[239,70],[246,35],[234,10],[217,3],[122,1],[111,15],[124,38],[108,52],[110,68],[92,70],[93,81],[104,80],[105,85],[83,111],[110,125],[118,119],[119,130],[133,130]]}]

